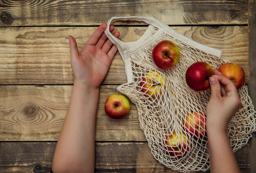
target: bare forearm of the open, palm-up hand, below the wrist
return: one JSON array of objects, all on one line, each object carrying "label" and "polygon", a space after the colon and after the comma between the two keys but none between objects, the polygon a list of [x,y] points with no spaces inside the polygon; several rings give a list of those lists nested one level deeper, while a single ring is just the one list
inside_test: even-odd
[{"label": "bare forearm of the open, palm-up hand, below the wrist", "polygon": [[54,153],[53,172],[59,168],[65,168],[63,171],[67,172],[94,172],[98,101],[99,89],[74,82],[70,105]]}]

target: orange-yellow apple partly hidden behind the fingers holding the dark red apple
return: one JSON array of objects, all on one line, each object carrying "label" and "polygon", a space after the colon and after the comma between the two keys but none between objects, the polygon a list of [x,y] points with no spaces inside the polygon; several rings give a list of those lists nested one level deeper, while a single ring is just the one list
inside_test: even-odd
[{"label": "orange-yellow apple partly hidden behind the fingers holding the dark red apple", "polygon": [[245,83],[245,71],[242,67],[235,63],[225,63],[218,68],[225,77],[232,80],[236,89],[240,89]]}]

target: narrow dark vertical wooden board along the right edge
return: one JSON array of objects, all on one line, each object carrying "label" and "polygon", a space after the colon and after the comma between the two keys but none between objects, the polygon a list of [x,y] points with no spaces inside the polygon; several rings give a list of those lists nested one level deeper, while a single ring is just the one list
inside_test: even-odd
[{"label": "narrow dark vertical wooden board along the right edge", "polygon": [[[256,1],[249,0],[249,95],[256,108]],[[256,132],[252,133],[250,143],[250,173],[256,173]]]}]

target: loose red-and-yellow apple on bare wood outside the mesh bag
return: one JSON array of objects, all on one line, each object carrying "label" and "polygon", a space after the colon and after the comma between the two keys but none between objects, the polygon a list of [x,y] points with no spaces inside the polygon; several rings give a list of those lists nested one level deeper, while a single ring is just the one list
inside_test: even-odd
[{"label": "loose red-and-yellow apple on bare wood outside the mesh bag", "polygon": [[110,118],[124,118],[130,111],[130,103],[124,95],[110,95],[105,103],[105,112]]}]

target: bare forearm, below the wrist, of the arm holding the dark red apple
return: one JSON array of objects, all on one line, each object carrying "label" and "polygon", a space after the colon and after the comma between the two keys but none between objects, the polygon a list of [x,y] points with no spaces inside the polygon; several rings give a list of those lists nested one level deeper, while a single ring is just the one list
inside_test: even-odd
[{"label": "bare forearm, below the wrist, of the arm holding the dark red apple", "polygon": [[211,173],[240,173],[225,131],[207,128]]}]

